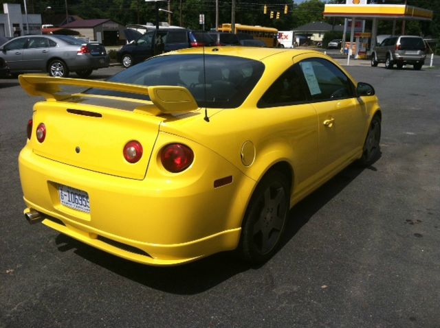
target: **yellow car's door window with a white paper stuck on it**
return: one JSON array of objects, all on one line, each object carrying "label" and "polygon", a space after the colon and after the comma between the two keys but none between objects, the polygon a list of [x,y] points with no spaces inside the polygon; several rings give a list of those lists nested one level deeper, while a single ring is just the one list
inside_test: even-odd
[{"label": "yellow car's door window with a white paper stuck on it", "polygon": [[300,62],[312,101],[355,97],[354,87],[347,75],[336,65],[321,58]]}]

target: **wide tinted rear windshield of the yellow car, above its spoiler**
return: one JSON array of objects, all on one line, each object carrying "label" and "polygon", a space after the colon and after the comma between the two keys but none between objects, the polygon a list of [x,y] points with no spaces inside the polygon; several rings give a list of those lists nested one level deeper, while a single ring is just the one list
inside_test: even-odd
[{"label": "wide tinted rear windshield of the yellow car, above its spoiler", "polygon": [[[203,62],[205,69],[203,70]],[[167,55],[151,58],[109,78],[109,82],[185,86],[200,107],[236,108],[259,81],[264,65],[234,56]],[[85,93],[150,100],[148,95],[89,89]]]}]

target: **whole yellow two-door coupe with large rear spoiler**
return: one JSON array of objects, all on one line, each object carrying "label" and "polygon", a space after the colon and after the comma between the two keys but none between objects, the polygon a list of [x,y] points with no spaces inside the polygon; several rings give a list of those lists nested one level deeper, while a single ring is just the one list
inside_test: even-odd
[{"label": "whole yellow two-door coupe with large rear spoiler", "polygon": [[149,265],[267,261],[296,202],[380,155],[373,87],[316,51],[193,48],[108,81],[19,80],[45,97],[19,156],[25,217]]}]

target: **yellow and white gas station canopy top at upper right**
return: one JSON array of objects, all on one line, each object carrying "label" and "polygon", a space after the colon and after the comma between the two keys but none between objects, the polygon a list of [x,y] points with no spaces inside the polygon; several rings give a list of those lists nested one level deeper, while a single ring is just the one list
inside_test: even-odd
[{"label": "yellow and white gas station canopy top at upper right", "polygon": [[325,5],[325,17],[431,21],[432,10],[412,5]]}]

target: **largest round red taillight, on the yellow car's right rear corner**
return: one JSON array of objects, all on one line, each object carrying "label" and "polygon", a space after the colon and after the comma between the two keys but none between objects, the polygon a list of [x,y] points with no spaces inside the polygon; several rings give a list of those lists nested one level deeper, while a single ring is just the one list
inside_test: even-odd
[{"label": "largest round red taillight, on the yellow car's right rear corner", "polygon": [[192,164],[194,153],[186,145],[171,143],[162,149],[160,160],[167,171],[182,172]]}]

